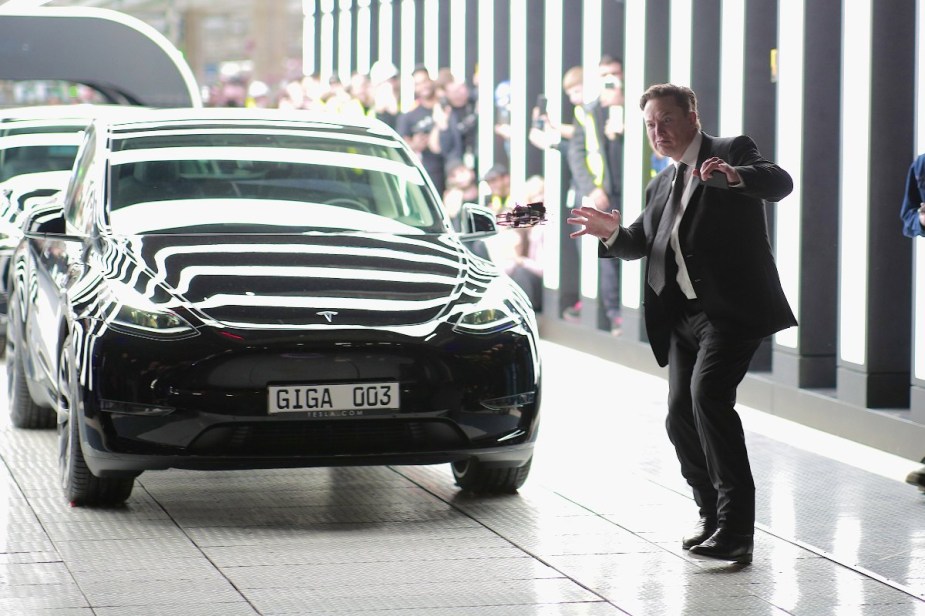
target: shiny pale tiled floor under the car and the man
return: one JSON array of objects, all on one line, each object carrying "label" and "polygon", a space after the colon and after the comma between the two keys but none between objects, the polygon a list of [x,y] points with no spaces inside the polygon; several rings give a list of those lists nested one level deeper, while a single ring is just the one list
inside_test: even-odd
[{"label": "shiny pale tiled floor under the car and the man", "polygon": [[165,471],[125,508],[70,508],[54,433],[3,409],[0,614],[925,615],[915,462],[743,409],[755,561],[694,560],[664,381],[542,350],[534,469],[506,497],[445,466]]}]

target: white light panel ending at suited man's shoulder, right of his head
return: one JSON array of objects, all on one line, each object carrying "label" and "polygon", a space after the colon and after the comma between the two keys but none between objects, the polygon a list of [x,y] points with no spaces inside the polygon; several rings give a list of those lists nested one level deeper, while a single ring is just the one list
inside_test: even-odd
[{"label": "white light panel ending at suited man's shoulder, right of his head", "polygon": [[723,0],[720,30],[719,134],[741,135],[745,98],[745,0]]}]

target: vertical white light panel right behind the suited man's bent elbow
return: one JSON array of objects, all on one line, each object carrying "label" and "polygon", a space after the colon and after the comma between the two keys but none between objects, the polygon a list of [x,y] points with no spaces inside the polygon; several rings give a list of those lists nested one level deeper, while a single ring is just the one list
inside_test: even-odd
[{"label": "vertical white light panel right behind the suited man's bent elbow", "polygon": [[[777,208],[774,244],[781,286],[793,309],[800,310],[800,235],[802,233],[803,55],[805,0],[780,0],[777,44],[777,163],[790,172],[793,192]],[[770,59],[769,59],[770,60]],[[774,341],[796,349],[796,327],[774,335]]]}]

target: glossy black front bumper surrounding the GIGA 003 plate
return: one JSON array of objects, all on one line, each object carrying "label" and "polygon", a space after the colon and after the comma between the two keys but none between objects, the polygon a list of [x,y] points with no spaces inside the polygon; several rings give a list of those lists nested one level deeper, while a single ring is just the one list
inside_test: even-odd
[{"label": "glossy black front bumper surrounding the GIGA 003 plate", "polygon": [[[536,438],[539,362],[526,332],[445,346],[383,338],[373,350],[368,339],[243,349],[198,340],[176,354],[126,338],[97,341],[93,387],[82,394],[82,448],[99,476],[473,456],[520,466]],[[268,411],[269,384],[345,380],[398,382],[401,406],[347,417]]]}]

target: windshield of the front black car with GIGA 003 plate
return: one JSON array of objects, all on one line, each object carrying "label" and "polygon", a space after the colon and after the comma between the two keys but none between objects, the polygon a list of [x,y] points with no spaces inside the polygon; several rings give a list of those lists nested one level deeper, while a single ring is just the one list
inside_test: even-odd
[{"label": "windshield of the front black car with GIGA 003 plate", "polygon": [[160,129],[120,135],[113,150],[119,235],[445,230],[420,169],[373,132]]}]

